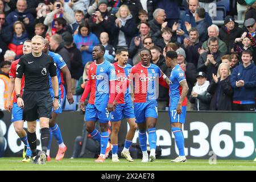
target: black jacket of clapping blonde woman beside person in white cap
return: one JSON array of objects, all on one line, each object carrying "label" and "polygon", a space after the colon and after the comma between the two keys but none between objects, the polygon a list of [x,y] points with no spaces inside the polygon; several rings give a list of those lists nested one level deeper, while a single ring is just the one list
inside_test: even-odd
[{"label": "black jacket of clapping blonde woman beside person in white cap", "polygon": [[225,80],[218,82],[210,82],[207,92],[212,94],[210,101],[210,110],[232,110],[233,89],[230,84],[230,76]]}]

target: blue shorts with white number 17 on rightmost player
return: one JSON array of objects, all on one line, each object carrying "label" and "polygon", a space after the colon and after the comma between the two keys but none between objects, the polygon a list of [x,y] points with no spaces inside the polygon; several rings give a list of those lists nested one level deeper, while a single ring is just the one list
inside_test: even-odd
[{"label": "blue shorts with white number 17 on rightmost player", "polygon": [[185,123],[187,112],[187,106],[181,107],[181,114],[177,114],[176,107],[170,106],[169,108],[169,116],[170,116],[170,123]]}]

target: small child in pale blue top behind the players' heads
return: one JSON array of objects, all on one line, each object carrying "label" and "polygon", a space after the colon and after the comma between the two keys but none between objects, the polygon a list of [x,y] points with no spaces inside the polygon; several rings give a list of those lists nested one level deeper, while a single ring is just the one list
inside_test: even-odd
[{"label": "small child in pale blue top behind the players' heads", "polygon": [[115,58],[115,48],[108,43],[109,42],[109,34],[107,32],[101,33],[100,42],[101,42],[102,46],[104,46],[106,49],[105,54],[104,54],[104,59],[108,60],[110,63],[113,63],[114,58]]}]

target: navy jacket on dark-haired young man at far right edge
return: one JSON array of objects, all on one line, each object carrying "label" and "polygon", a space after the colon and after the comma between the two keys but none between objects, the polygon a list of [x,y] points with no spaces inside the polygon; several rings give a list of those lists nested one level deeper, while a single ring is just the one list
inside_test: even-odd
[{"label": "navy jacket on dark-haired young man at far right edge", "polygon": [[[236,81],[243,80],[245,85],[236,86]],[[251,63],[248,67],[243,64],[234,68],[230,77],[232,88],[234,89],[233,101],[241,101],[241,104],[254,104],[256,93],[256,66]]]}]

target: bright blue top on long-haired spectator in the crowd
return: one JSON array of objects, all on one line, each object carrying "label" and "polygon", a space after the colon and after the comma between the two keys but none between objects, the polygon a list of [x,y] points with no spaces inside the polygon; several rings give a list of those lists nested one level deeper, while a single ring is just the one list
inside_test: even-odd
[{"label": "bright blue top on long-haired spectator in the crowd", "polygon": [[82,64],[85,65],[88,61],[93,61],[92,58],[92,49],[97,44],[100,44],[97,36],[92,32],[88,36],[82,36],[80,34],[74,35],[74,43],[76,47],[80,50],[81,46],[89,46],[89,49],[86,51],[81,51],[82,53]]}]

